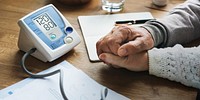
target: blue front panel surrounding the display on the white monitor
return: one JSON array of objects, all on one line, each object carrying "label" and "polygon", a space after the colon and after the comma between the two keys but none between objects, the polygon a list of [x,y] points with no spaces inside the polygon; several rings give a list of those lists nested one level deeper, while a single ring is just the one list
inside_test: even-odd
[{"label": "blue front panel surrounding the display on the white monitor", "polygon": [[24,22],[52,50],[65,44],[65,23],[52,6],[33,13]]}]

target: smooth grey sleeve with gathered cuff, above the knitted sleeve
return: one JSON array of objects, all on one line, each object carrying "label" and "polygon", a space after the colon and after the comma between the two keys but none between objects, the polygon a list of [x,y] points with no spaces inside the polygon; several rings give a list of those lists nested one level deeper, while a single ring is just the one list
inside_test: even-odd
[{"label": "smooth grey sleeve with gathered cuff, above the knitted sleeve", "polygon": [[155,47],[185,44],[200,37],[200,0],[188,0],[158,20],[143,26],[154,39]]}]

